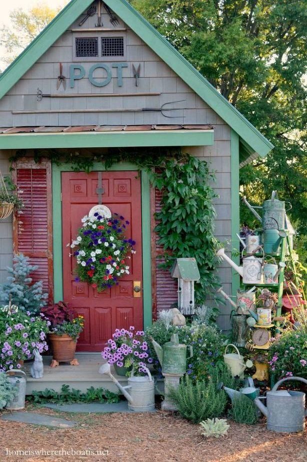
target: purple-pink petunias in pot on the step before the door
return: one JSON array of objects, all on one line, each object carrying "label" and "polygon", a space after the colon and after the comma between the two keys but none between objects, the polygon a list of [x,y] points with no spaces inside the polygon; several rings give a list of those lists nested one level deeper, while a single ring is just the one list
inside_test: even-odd
[{"label": "purple-pink petunias in pot on the step before the door", "polygon": [[112,338],[107,341],[107,346],[101,352],[103,359],[113,365],[117,375],[130,375],[133,368],[135,375],[142,373],[143,365],[151,364],[148,344],[144,340],[143,331],[135,331],[134,326],[129,330],[115,329]]}]

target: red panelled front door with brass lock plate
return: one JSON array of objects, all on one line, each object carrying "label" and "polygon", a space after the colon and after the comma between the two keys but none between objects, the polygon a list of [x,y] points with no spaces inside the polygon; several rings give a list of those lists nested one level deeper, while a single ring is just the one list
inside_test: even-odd
[{"label": "red panelled front door with brass lock plate", "polygon": [[78,351],[101,351],[115,328],[143,328],[142,295],[133,297],[133,281],[140,281],[142,287],[141,196],[136,171],[102,172],[102,203],[130,222],[126,238],[136,242],[130,274],[120,278],[118,286],[100,293],[87,283],[74,281],[76,262],[66,245],[75,239],[81,218],[98,203],[97,186],[97,172],[62,173],[63,299],[84,316]]}]

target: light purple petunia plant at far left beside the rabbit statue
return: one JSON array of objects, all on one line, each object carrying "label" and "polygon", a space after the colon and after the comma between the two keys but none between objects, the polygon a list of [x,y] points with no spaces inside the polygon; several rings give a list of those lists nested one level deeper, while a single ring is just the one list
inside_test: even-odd
[{"label": "light purple petunia plant at far left beside the rabbit statue", "polygon": [[39,353],[48,349],[46,334],[49,322],[44,316],[33,316],[16,305],[0,308],[0,371],[20,369],[33,350]]}]

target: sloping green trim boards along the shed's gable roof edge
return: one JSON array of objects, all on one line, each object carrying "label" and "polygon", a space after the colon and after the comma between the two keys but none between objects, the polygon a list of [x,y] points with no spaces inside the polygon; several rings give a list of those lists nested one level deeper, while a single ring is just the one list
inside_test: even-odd
[{"label": "sloping green trim boards along the shed's gable roof edge", "polygon": [[[92,2],[93,0],[71,0],[60,11],[0,75],[0,99]],[[126,0],[104,0],[104,3],[239,135],[240,166],[257,155],[264,157],[273,148],[273,145]]]}]

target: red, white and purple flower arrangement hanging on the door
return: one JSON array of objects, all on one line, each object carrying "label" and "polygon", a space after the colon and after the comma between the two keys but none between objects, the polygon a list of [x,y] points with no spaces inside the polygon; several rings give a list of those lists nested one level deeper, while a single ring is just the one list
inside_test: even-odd
[{"label": "red, white and purple flower arrangement hanging on the door", "polygon": [[77,237],[67,247],[73,249],[77,263],[75,281],[87,282],[93,289],[102,292],[118,285],[118,280],[129,274],[127,259],[135,254],[135,241],[125,239],[128,220],[114,213],[110,218],[95,212],[81,219],[83,226]]}]

